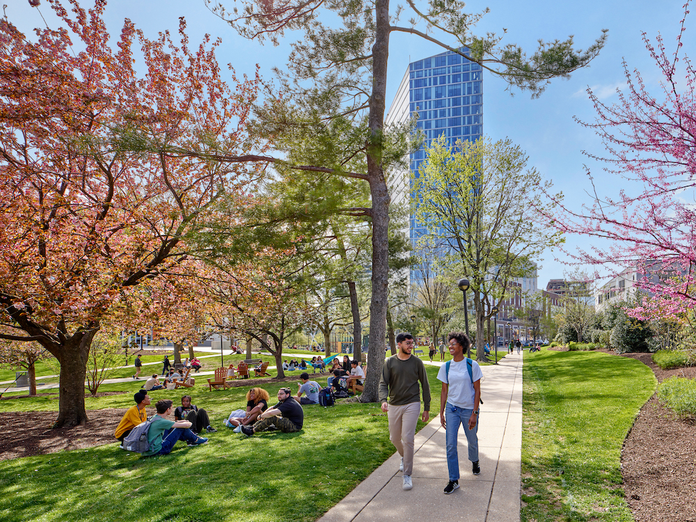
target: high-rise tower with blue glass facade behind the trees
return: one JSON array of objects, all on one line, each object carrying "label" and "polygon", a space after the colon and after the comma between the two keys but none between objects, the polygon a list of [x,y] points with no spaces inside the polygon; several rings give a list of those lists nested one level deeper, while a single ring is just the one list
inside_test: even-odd
[{"label": "high-rise tower with blue glass facade behind the trees", "polygon": [[[461,49],[468,54],[467,49]],[[425,134],[427,143],[442,134],[450,145],[457,140],[476,141],[483,134],[483,81],[482,68],[463,56],[448,51],[409,64],[404,79],[385,118],[386,125],[404,123],[418,113],[418,128]],[[413,152],[409,171],[390,173],[392,201],[406,203],[417,198],[413,193],[411,175],[418,177],[418,169],[425,159],[425,145]],[[425,227],[409,219],[411,243]],[[411,282],[418,283],[418,274],[411,273]]]}]

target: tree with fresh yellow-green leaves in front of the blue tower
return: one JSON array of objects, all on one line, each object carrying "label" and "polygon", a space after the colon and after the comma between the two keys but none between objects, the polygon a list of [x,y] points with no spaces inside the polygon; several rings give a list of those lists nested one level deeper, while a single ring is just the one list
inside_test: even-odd
[{"label": "tree with fresh yellow-green leaves in front of the blue tower", "polygon": [[483,361],[484,324],[493,303],[509,292],[514,278],[530,274],[536,258],[560,235],[539,226],[526,202],[535,200],[541,179],[509,140],[458,142],[453,150],[441,136],[427,148],[418,178],[422,194],[415,214],[425,223],[422,242],[446,253],[443,262],[468,278],[475,316],[476,356]]}]

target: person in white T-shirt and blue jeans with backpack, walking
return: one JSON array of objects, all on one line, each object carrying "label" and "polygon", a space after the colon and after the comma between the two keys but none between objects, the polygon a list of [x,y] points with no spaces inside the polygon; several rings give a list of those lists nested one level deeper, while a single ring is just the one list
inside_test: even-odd
[{"label": "person in white T-shirt and blue jeans with backpack, walking", "polygon": [[478,405],[481,400],[481,378],[483,373],[476,361],[464,356],[469,338],[464,332],[452,332],[450,354],[452,361],[443,364],[437,374],[442,382],[440,392],[440,424],[445,428],[447,446],[447,468],[450,482],[445,486],[445,495],[459,488],[459,455],[457,454],[457,432],[464,425],[464,434],[472,462],[473,474],[481,473],[478,460]]}]

